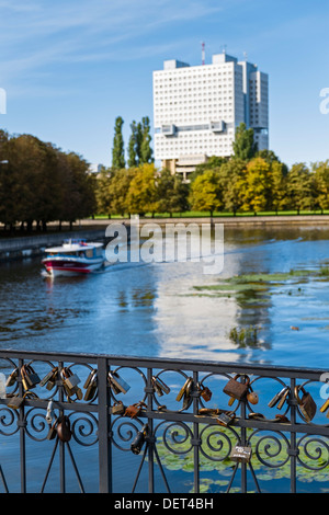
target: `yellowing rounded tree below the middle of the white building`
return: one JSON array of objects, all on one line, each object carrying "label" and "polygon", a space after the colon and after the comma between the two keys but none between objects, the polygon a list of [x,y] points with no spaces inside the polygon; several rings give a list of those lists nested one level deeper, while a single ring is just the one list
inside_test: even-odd
[{"label": "yellowing rounded tree below the middle of the white building", "polygon": [[211,211],[211,216],[215,210],[222,209],[223,196],[218,173],[214,170],[206,170],[198,175],[191,184],[189,202],[192,209]]}]

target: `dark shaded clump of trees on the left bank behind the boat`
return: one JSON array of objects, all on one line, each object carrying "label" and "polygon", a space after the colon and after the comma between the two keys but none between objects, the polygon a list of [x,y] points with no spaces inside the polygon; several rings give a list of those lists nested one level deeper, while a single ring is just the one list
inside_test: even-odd
[{"label": "dark shaded clump of trees on the left bank behind the boat", "polygon": [[31,135],[0,130],[0,222],[12,229],[70,222],[97,210],[94,178],[75,152]]}]

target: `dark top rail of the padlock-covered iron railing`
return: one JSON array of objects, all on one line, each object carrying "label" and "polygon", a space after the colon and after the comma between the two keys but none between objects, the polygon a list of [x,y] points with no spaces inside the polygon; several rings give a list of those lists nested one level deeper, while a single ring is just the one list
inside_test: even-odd
[{"label": "dark top rail of the padlock-covered iron railing", "polygon": [[144,356],[125,356],[112,354],[88,354],[88,353],[69,353],[69,352],[38,352],[38,351],[21,351],[21,350],[0,350],[0,358],[22,358],[34,360],[56,360],[66,363],[94,363],[100,359],[106,359],[110,364],[117,366],[140,366],[149,368],[168,368],[168,369],[186,369],[202,371],[230,371],[236,374],[259,374],[269,377],[299,377],[318,380],[319,377],[329,373],[329,368],[308,368],[294,366],[276,366],[276,365],[259,365],[250,363],[235,362],[211,362],[200,359],[171,359],[166,357],[144,357]]}]

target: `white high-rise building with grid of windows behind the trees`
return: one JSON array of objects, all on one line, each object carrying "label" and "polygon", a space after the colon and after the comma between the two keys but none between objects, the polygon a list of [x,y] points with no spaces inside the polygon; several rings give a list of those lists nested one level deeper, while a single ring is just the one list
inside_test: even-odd
[{"label": "white high-rise building with grid of windows behind the trees", "polygon": [[154,71],[155,159],[172,173],[195,170],[212,156],[229,157],[236,127],[269,148],[269,79],[257,65],[226,53],[211,65],[167,60]]}]

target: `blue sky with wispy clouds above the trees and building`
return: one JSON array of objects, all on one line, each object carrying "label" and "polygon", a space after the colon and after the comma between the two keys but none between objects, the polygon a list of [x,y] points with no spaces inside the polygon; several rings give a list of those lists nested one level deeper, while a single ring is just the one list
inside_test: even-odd
[{"label": "blue sky with wispy clouds above the trees and building", "polygon": [[115,118],[125,146],[133,121],[152,126],[152,71],[201,65],[204,42],[206,64],[225,48],[269,73],[270,149],[324,161],[328,22],[324,0],[0,0],[0,128],[109,167]]}]

